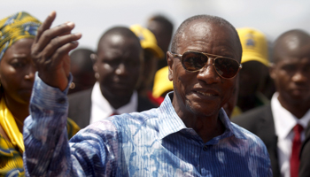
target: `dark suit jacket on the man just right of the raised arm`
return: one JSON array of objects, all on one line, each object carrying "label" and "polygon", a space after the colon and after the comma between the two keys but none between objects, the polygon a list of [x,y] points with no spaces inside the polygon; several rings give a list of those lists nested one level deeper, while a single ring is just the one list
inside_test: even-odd
[{"label": "dark suit jacket on the man just right of the raised arm", "polygon": [[[91,112],[91,91],[87,89],[68,96],[69,110],[68,118],[73,119],[79,127],[87,127],[90,120]],[[154,104],[142,96],[138,96],[137,112],[143,112],[155,108]]]}]

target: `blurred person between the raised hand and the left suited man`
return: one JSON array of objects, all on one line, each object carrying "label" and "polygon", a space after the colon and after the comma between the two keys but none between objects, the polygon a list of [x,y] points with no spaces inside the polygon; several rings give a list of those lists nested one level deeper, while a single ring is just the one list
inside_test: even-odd
[{"label": "blurred person between the raised hand and the left suited man", "polygon": [[96,82],[91,55],[94,51],[89,49],[77,49],[70,54],[71,73],[74,81],[70,85],[69,93],[73,94],[85,89],[90,89]]}]

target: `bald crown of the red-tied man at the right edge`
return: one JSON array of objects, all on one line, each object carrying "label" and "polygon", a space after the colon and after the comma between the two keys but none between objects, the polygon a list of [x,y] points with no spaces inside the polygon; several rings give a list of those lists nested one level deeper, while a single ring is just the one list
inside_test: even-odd
[{"label": "bald crown of the red-tied man at the right edge", "polygon": [[280,35],[274,43],[274,63],[287,55],[295,55],[300,49],[309,46],[310,35],[300,29],[293,29]]}]

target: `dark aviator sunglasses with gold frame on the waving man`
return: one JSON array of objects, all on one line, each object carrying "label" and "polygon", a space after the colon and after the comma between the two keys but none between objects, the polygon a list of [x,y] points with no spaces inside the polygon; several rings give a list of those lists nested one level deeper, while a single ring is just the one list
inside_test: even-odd
[{"label": "dark aviator sunglasses with gold frame on the waving man", "polygon": [[174,58],[181,58],[181,63],[184,69],[191,73],[200,71],[205,67],[209,58],[213,59],[214,69],[223,79],[234,78],[236,73],[242,68],[242,65],[233,58],[221,57],[199,51],[189,50],[185,51],[182,55],[174,53],[172,53],[172,55]]}]

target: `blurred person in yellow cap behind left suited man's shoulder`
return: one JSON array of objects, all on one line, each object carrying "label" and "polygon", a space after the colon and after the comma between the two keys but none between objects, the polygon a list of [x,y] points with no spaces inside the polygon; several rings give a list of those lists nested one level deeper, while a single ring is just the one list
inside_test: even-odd
[{"label": "blurred person in yellow cap behind left suited man's shoulder", "polygon": [[133,25],[129,28],[140,39],[141,47],[143,48],[144,53],[142,81],[140,86],[137,88],[138,94],[139,96],[149,99],[151,103],[159,105],[161,104],[160,99],[152,96],[151,87],[154,81],[154,75],[157,70],[159,59],[164,58],[164,52],[159,48],[155,35],[153,35],[150,30],[140,25]]}]

